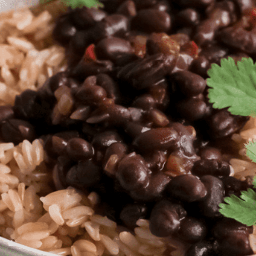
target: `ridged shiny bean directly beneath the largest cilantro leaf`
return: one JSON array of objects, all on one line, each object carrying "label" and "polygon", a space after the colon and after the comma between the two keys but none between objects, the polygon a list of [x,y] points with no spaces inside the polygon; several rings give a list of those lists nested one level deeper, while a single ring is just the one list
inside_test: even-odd
[{"label": "ridged shiny bean directly beneath the largest cilantro leaf", "polygon": [[247,121],[247,116],[234,116],[227,109],[221,109],[207,120],[209,134],[213,138],[229,136],[239,131]]}]

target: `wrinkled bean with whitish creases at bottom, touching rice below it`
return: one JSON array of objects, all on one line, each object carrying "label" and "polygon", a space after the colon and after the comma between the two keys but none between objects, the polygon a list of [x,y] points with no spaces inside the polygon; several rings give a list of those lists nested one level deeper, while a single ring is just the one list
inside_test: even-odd
[{"label": "wrinkled bean with whitish creases at bottom, touching rice below it", "polygon": [[151,211],[149,229],[155,236],[170,236],[180,228],[180,219],[185,215],[186,211],[179,204],[162,200]]}]

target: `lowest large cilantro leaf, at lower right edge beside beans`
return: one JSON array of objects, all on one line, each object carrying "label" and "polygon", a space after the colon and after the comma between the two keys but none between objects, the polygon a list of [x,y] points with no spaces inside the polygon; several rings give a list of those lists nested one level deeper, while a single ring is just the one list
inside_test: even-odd
[{"label": "lowest large cilantro leaf, at lower right edge beside beans", "polygon": [[219,204],[219,212],[227,218],[234,218],[247,226],[256,224],[256,192],[253,189],[241,191],[236,195],[224,198],[227,204]]}]

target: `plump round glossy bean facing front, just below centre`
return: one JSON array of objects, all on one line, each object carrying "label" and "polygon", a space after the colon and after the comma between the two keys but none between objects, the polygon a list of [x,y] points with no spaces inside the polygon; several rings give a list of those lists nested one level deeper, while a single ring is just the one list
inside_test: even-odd
[{"label": "plump round glossy bean facing front, just below centre", "polygon": [[131,153],[119,162],[116,178],[124,189],[133,190],[147,186],[149,174],[143,157]]}]

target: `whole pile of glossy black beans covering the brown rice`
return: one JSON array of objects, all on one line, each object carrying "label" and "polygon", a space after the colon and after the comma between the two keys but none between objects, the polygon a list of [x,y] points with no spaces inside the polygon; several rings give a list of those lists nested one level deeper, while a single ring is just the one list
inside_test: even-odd
[{"label": "whole pile of glossy black beans covering the brown rice", "polygon": [[221,58],[256,61],[253,0],[102,3],[58,18],[68,68],[0,107],[1,140],[41,137],[56,189],[98,192],[99,213],[129,229],[148,218],[186,256],[252,254],[252,227],[218,211],[252,187],[223,157],[248,118],[213,109],[206,79]]}]

